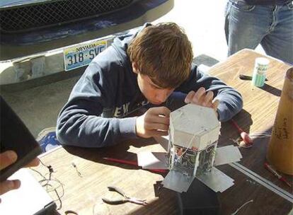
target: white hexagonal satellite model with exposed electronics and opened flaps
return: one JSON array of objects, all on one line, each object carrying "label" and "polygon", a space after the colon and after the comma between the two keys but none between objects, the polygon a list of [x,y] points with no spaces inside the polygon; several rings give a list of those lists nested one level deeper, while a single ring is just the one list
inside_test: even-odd
[{"label": "white hexagonal satellite model with exposed electronics and opened flaps", "polygon": [[176,192],[187,192],[194,178],[214,192],[223,192],[234,180],[214,166],[240,161],[242,156],[232,145],[217,148],[219,129],[212,108],[185,105],[171,112],[169,136],[156,138],[166,153],[138,153],[138,164],[147,169],[169,169],[162,184]]}]

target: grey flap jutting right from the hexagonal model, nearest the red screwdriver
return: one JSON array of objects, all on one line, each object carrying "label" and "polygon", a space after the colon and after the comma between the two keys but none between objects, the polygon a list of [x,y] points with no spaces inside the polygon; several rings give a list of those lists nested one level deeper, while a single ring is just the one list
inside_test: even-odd
[{"label": "grey flap jutting right from the hexagonal model, nearest the red screwdriver", "polygon": [[217,148],[216,156],[214,157],[214,165],[223,165],[240,161],[242,155],[236,146],[223,146]]}]

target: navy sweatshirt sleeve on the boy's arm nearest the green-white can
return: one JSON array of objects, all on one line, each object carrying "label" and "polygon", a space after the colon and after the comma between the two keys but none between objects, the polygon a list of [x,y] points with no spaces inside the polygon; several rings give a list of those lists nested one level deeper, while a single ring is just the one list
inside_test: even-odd
[{"label": "navy sweatshirt sleeve on the boy's arm nearest the green-white can", "polygon": [[243,100],[241,94],[236,89],[227,86],[226,83],[214,76],[209,76],[199,71],[197,66],[193,65],[190,79],[180,86],[180,91],[188,93],[190,91],[197,91],[201,87],[204,87],[206,91],[212,91],[214,93],[214,100],[219,100],[217,112],[220,122],[230,120],[241,111]]}]

